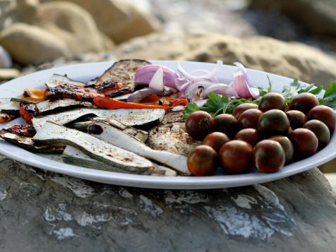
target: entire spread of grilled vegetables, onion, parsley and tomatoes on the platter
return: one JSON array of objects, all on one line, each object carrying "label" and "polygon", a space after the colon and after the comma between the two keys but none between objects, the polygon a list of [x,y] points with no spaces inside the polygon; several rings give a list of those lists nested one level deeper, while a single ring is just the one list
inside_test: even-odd
[{"label": "entire spread of grilled vegetables, onion, parsley and tomatoes on the platter", "polygon": [[220,80],[221,64],[188,73],[127,59],[88,83],[54,74],[45,88],[0,99],[0,122],[28,124],[0,137],[68,164],[152,176],[207,176],[218,164],[226,174],[277,172],[328,144],[336,83],[320,98],[322,88],[298,80],[280,94],[271,82],[253,88],[241,64]]}]

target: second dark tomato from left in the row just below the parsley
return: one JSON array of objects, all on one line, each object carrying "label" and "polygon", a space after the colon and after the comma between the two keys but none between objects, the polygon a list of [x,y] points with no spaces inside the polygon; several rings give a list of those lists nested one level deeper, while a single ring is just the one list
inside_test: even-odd
[{"label": "second dark tomato from left in the row just below the parsley", "polygon": [[238,121],[232,114],[220,114],[213,119],[213,131],[232,137],[238,131]]}]

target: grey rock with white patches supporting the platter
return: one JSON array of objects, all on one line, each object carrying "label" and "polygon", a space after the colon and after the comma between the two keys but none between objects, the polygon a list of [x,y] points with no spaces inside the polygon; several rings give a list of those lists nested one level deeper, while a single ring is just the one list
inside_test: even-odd
[{"label": "grey rock with white patches supporting the platter", "polygon": [[263,185],[171,191],[0,160],[1,251],[335,251],[336,198],[318,169]]}]

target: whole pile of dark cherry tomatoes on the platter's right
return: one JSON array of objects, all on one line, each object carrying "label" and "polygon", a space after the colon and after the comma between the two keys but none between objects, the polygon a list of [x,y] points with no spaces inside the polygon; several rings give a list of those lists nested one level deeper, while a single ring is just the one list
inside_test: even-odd
[{"label": "whole pile of dark cherry tomatoes on the platter's right", "polygon": [[203,140],[189,153],[188,169],[196,176],[212,175],[220,163],[226,174],[248,173],[253,167],[277,172],[324,148],[335,120],[333,109],[320,105],[310,92],[301,92],[289,103],[280,93],[268,92],[258,105],[242,103],[232,114],[213,118],[198,110],[186,118],[186,132]]}]

